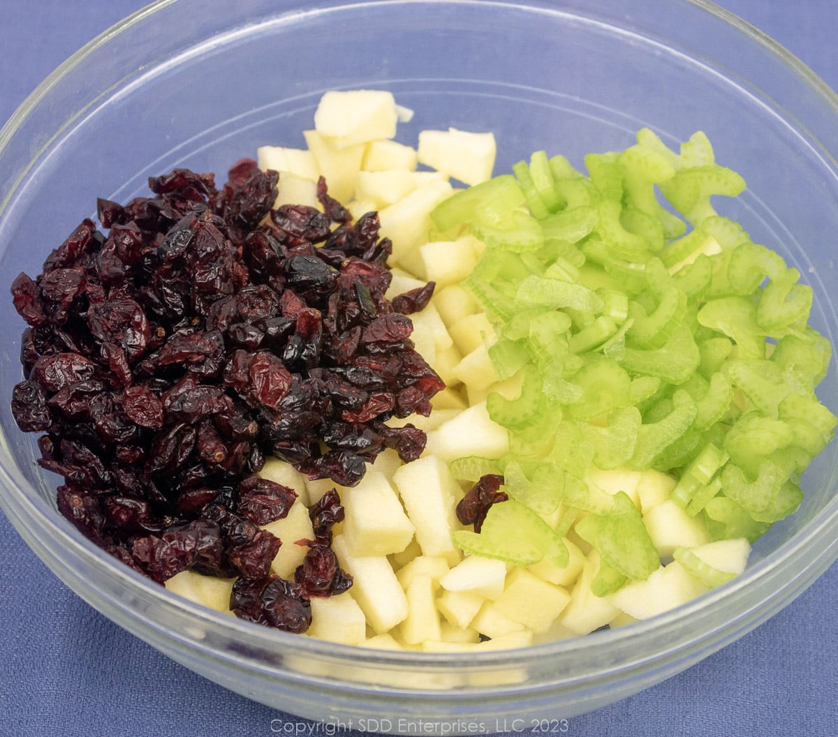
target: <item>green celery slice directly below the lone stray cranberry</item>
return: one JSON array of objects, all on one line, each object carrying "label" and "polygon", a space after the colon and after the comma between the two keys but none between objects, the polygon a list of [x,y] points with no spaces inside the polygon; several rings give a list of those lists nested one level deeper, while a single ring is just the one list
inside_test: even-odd
[{"label": "green celery slice directly below the lone stray cranberry", "polygon": [[563,568],[564,541],[541,517],[515,499],[493,504],[479,533],[458,530],[453,542],[464,552],[528,566],[542,559]]}]

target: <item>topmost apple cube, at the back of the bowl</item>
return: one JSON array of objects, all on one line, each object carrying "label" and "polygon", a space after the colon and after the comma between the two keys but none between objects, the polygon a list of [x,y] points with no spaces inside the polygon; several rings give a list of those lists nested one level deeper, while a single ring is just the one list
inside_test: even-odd
[{"label": "topmost apple cube, at the back of the bowl", "polygon": [[337,149],[393,138],[397,123],[396,101],[385,90],[331,90],[314,112],[314,130]]}]

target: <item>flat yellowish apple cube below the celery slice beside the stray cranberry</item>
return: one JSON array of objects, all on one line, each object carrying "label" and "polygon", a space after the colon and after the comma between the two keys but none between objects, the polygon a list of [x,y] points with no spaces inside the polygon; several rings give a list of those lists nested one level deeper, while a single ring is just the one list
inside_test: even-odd
[{"label": "flat yellowish apple cube below the celery slice beside the stray cranberry", "polygon": [[570,600],[563,586],[551,584],[525,568],[515,568],[494,607],[537,634],[551,626]]}]

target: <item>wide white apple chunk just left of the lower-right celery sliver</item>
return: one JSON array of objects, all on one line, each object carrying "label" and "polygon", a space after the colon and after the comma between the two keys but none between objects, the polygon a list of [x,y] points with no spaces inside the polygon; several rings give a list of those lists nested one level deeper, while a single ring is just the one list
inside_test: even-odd
[{"label": "wide white apple chunk just left of the lower-right celery sliver", "polygon": [[632,581],[608,596],[614,606],[635,619],[648,619],[705,594],[709,589],[674,560],[644,581]]}]

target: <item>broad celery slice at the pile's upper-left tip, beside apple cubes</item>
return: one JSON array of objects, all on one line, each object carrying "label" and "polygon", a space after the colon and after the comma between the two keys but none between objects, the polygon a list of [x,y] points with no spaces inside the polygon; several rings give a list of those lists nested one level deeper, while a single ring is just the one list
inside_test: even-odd
[{"label": "broad celery slice at the pile's upper-left tip, beside apple cubes", "polygon": [[458,225],[477,221],[499,228],[524,203],[524,193],[512,174],[501,174],[473,187],[461,189],[437,204],[431,219],[443,233]]}]

